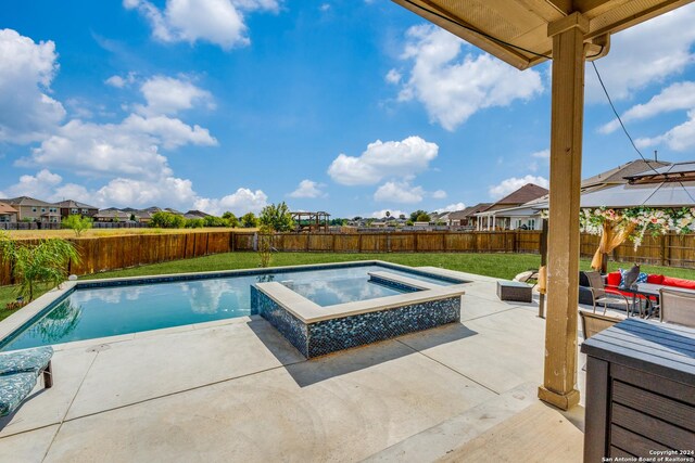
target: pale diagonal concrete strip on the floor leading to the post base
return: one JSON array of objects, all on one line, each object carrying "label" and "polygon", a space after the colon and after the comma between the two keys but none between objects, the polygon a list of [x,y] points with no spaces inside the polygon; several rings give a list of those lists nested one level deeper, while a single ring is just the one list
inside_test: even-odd
[{"label": "pale diagonal concrete strip on the floor leading to the post base", "polygon": [[431,462],[458,453],[462,446],[539,403],[538,384],[525,383],[429,429],[408,437],[365,462]]}]

